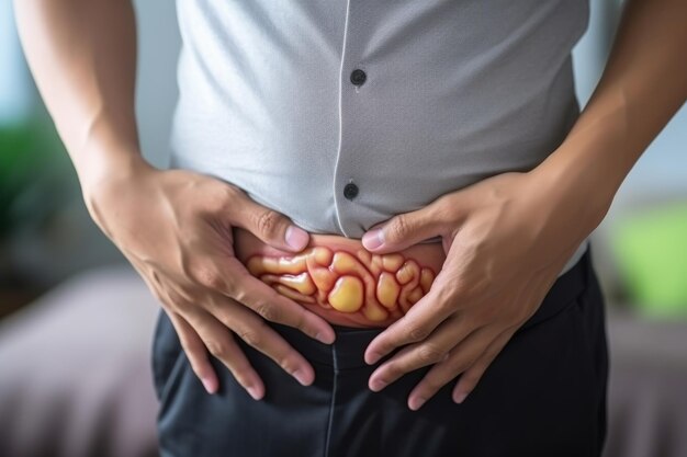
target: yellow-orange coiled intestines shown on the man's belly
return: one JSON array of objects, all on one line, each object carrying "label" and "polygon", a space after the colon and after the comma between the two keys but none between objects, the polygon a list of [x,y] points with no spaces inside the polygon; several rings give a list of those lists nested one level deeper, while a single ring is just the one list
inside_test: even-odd
[{"label": "yellow-orange coiled intestines shown on the man's belly", "polygon": [[361,312],[371,321],[398,318],[417,302],[435,281],[435,272],[399,253],[356,255],[326,247],[299,254],[256,254],[246,262],[256,277],[278,293],[341,312]]}]

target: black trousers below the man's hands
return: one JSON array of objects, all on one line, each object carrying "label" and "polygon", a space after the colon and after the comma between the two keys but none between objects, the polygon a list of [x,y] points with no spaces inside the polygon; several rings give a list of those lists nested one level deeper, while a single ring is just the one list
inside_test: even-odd
[{"label": "black trousers below the man's hands", "polygon": [[210,396],[160,313],[154,344],[161,455],[169,456],[594,456],[606,436],[605,300],[590,249],[556,279],[462,404],[455,380],[418,411],[410,390],[429,367],[380,392],[364,350],[382,329],[335,327],[333,345],[270,323],[315,367],[301,386],[237,338],[262,377],[256,401],[217,359],[221,390]]}]

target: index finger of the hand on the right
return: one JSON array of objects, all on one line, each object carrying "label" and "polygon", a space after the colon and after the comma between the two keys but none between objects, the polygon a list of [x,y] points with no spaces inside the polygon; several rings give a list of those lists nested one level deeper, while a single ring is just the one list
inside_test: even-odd
[{"label": "index finger of the hand on the right", "polygon": [[364,353],[365,363],[375,364],[396,347],[426,340],[441,322],[455,312],[454,304],[455,299],[452,298],[452,294],[446,292],[446,287],[432,284],[429,292],[416,301],[408,312],[368,344]]}]

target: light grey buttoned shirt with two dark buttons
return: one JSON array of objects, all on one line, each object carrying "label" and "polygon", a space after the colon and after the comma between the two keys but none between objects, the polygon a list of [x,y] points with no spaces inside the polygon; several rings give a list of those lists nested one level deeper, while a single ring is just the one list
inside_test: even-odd
[{"label": "light grey buttoned shirt with two dark buttons", "polygon": [[587,2],[178,0],[170,167],[359,239],[555,150]]}]

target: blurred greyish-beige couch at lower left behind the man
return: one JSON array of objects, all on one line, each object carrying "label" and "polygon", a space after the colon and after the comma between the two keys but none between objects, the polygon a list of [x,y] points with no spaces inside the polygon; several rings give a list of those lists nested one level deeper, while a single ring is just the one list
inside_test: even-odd
[{"label": "blurred greyish-beige couch at lower left behind the man", "polygon": [[0,321],[0,456],[155,456],[158,309],[132,269],[112,266]]}]

